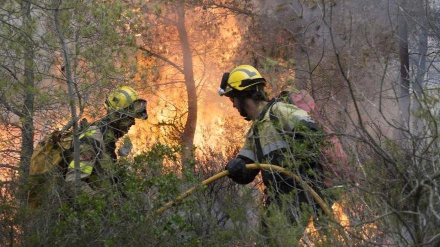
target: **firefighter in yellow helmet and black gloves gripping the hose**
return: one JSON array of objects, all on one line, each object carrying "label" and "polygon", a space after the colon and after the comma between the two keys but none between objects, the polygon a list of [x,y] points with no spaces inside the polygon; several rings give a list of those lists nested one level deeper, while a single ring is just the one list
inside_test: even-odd
[{"label": "firefighter in yellow helmet and black gloves gripping the hose", "polygon": [[[305,145],[304,130],[316,134],[318,127],[307,112],[296,106],[276,99],[267,100],[265,84],[265,79],[250,65],[237,66],[229,73],[224,73],[221,79],[218,90],[220,96],[229,97],[240,115],[252,121],[245,135],[244,146],[238,156],[225,167],[230,173],[229,178],[238,184],[248,184],[259,171],[247,170],[246,164],[272,164],[296,172],[318,191],[317,188],[322,184],[320,166],[306,154],[309,150],[304,149],[300,154],[293,148],[295,144]],[[302,204],[316,208],[312,198],[292,178],[265,170],[261,171],[261,176],[266,187],[266,208],[270,204],[281,207],[280,198],[285,194],[294,195],[288,207],[291,222],[299,220],[301,214],[298,213],[301,213]],[[313,212],[316,213],[315,210]],[[264,222],[262,225],[266,226]]]}]

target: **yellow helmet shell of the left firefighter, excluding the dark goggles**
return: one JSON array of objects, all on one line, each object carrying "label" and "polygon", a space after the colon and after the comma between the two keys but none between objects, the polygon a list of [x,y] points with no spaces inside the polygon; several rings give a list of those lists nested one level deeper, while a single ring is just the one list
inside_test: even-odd
[{"label": "yellow helmet shell of the left firefighter, excluding the dark goggles", "polygon": [[120,111],[130,106],[138,98],[136,90],[128,86],[121,86],[107,96],[104,107],[109,111]]}]

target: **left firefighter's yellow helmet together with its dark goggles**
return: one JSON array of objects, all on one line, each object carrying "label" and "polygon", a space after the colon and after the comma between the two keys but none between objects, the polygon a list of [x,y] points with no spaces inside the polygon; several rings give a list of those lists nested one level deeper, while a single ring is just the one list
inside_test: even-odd
[{"label": "left firefighter's yellow helmet together with its dark goggles", "polygon": [[127,116],[147,119],[146,100],[139,99],[136,90],[128,86],[121,86],[112,91],[105,100],[105,109],[120,112]]}]

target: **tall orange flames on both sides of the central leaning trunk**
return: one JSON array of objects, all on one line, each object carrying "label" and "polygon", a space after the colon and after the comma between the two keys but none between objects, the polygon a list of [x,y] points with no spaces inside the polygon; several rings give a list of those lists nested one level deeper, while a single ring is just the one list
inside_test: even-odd
[{"label": "tall orange flames on both sides of the central leaning trunk", "polygon": [[[217,11],[217,10],[212,10]],[[189,17],[189,16],[188,16]],[[192,20],[187,18],[188,22]],[[194,20],[195,21],[195,20]],[[201,149],[205,147],[224,147],[227,140],[224,138],[228,135],[225,130],[225,117],[233,117],[237,125],[244,125],[246,122],[241,120],[238,112],[232,107],[232,104],[226,97],[220,97],[217,94],[219,81],[224,71],[219,67],[224,60],[233,57],[238,45],[241,41],[236,20],[233,16],[223,17],[219,26],[219,40],[227,40],[219,43],[221,49],[212,49],[206,51],[206,47],[201,44],[192,44],[195,49],[207,52],[204,60],[193,56],[193,72],[195,85],[197,86],[197,125],[194,134],[193,145],[197,147],[196,155],[201,155]],[[187,24],[187,26],[189,26]],[[178,38],[176,38],[178,40]],[[138,44],[142,44],[142,40],[137,39]],[[159,50],[165,50],[169,55],[168,59],[172,61],[180,61],[180,46],[174,43],[173,46],[160,45]],[[175,54],[175,55],[172,55]],[[138,70],[142,71],[150,67],[151,60],[146,58],[142,53],[136,53]],[[231,65],[233,66],[233,65]],[[170,130],[182,130],[186,116],[179,119],[180,115],[187,109],[186,89],[184,78],[175,68],[171,66],[162,66],[158,71],[158,81],[154,81],[150,91],[153,94],[140,92],[140,94],[148,99],[148,115],[147,121],[137,121],[136,125],[130,128],[128,135],[133,143],[133,153],[139,154],[145,151],[147,147],[156,142],[161,141],[169,143],[166,138],[169,137]],[[137,76],[136,79],[140,79]],[[183,120],[183,121],[181,121]],[[242,133],[244,136],[244,132]],[[242,141],[242,140],[241,140]]]}]

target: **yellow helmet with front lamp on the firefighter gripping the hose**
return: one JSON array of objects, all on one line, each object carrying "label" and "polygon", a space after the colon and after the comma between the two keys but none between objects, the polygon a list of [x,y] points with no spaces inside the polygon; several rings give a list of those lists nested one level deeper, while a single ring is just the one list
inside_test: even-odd
[{"label": "yellow helmet with front lamp on the firefighter gripping the hose", "polygon": [[251,90],[257,84],[265,84],[266,80],[254,67],[250,65],[239,65],[230,73],[224,73],[221,79],[218,94],[232,97],[237,91]]}]

